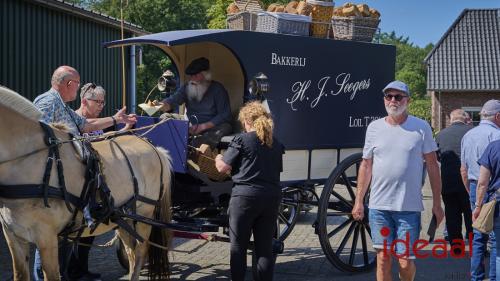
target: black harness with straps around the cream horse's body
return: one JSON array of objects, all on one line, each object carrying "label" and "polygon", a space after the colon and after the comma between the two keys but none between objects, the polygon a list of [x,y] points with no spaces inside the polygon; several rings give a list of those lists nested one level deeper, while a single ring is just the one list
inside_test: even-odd
[{"label": "black harness with straps around the cream horse's body", "polygon": [[[39,124],[45,133],[44,142],[47,146],[45,149],[48,150],[47,163],[45,166],[45,172],[42,178],[42,183],[21,184],[21,185],[0,185],[0,197],[9,199],[43,198],[44,205],[47,208],[50,208],[50,205],[48,203],[49,198],[64,200],[66,207],[72,213],[72,218],[69,224],[61,231],[61,233],[59,233],[59,235],[62,236],[64,239],[68,239],[68,236],[70,234],[76,234],[76,239],[74,239],[75,241],[78,241],[85,227],[89,227],[90,233],[92,234],[101,223],[109,224],[110,221],[115,223],[119,227],[123,228],[125,231],[127,231],[130,235],[132,235],[135,239],[137,239],[140,242],[144,242],[145,240],[135,230],[135,224],[137,222],[142,222],[145,224],[163,228],[168,227],[170,225],[168,223],[157,222],[155,220],[138,215],[136,213],[137,201],[154,206],[159,206],[164,190],[163,163],[160,154],[158,153],[158,150],[149,141],[147,141],[142,137],[139,137],[141,140],[148,143],[153,148],[161,163],[160,196],[157,200],[153,200],[139,194],[138,181],[134,174],[132,164],[130,163],[130,159],[128,158],[123,148],[114,139],[110,139],[110,142],[113,145],[117,146],[117,148],[120,150],[120,152],[126,159],[127,166],[129,168],[134,186],[134,195],[125,204],[121,206],[115,206],[113,196],[111,195],[111,191],[108,185],[106,184],[104,175],[102,174],[102,167],[99,154],[92,147],[90,142],[85,140],[81,142],[82,150],[84,151],[83,162],[86,168],[85,168],[85,181],[83,184],[83,188],[80,196],[77,197],[66,190],[63,164],[59,153],[60,145],[64,143],[74,142],[77,140],[74,140],[70,134],[71,139],[69,141],[61,141],[56,137],[56,135],[54,134],[54,130],[49,125],[43,122],[39,122]],[[115,136],[118,135],[123,135],[123,133],[116,134]],[[40,151],[42,150],[35,150],[33,152],[17,157],[15,159],[0,162],[0,164],[28,157]],[[59,188],[49,185],[54,162],[56,163],[56,168],[57,168]],[[75,208],[73,209],[71,205],[75,206]],[[83,213],[81,224],[77,224],[78,212]],[[126,219],[132,220],[134,222],[134,227],[130,226],[129,223],[126,221]]]}]

